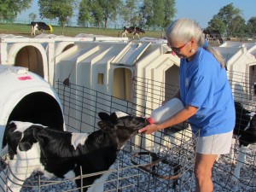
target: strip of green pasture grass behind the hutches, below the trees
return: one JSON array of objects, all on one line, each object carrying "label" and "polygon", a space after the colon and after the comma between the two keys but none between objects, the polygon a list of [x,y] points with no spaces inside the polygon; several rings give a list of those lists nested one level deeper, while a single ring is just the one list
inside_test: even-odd
[{"label": "strip of green pasture grass behind the hutches, below the trees", "polygon": [[[72,27],[66,26],[63,31],[63,35],[67,37],[75,37],[80,33],[94,34],[94,35],[104,35],[110,37],[120,37],[122,29],[105,29],[105,28],[88,28],[88,27]],[[163,35],[163,32],[153,32],[145,30],[145,34],[140,34],[141,37],[150,37],[150,38],[160,38]],[[5,34],[14,34],[21,36],[30,36],[31,27],[30,24],[12,24],[12,23],[0,23],[0,33]],[[46,32],[45,32],[46,33]],[[53,26],[53,34],[62,35],[61,26]],[[40,34],[40,32],[37,32]],[[132,38],[132,34],[128,34],[129,38]]]}]

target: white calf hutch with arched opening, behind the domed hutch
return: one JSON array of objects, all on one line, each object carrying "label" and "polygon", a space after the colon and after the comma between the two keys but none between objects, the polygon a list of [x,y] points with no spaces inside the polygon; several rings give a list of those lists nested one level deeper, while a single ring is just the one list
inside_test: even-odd
[{"label": "white calf hutch with arched opening, behind the domed hutch", "polygon": [[[55,42],[53,39],[20,38],[14,35],[0,37],[1,64],[27,67],[45,80],[49,80],[49,66],[54,66]],[[50,54],[47,55],[45,47]]]}]

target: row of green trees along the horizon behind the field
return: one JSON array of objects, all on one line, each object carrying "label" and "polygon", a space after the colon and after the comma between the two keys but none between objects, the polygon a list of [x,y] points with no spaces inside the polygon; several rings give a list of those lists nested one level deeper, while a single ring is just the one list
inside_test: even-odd
[{"label": "row of green trees along the horizon behind the field", "polygon": [[[19,13],[32,4],[32,0],[1,2],[1,20],[15,20]],[[58,20],[63,28],[75,17],[78,26],[90,23],[107,28],[109,21],[123,20],[124,26],[165,30],[177,13],[176,0],[38,0],[38,8],[41,19]],[[31,13],[29,17],[35,20],[37,15]],[[229,3],[212,16],[207,29],[219,30],[230,37],[255,35],[256,16],[245,20],[241,9]]]}]

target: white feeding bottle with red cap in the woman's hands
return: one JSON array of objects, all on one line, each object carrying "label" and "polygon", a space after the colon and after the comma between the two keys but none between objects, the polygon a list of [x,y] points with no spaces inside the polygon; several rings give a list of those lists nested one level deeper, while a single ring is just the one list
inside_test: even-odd
[{"label": "white feeding bottle with red cap in the woman's hands", "polygon": [[175,113],[179,112],[184,108],[183,102],[177,98],[172,98],[159,108],[155,108],[148,118],[149,124],[160,124],[166,119],[172,117]]}]

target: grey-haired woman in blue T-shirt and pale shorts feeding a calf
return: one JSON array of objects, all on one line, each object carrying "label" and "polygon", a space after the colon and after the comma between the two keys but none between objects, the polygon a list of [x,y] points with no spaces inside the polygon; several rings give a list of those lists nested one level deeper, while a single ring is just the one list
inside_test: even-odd
[{"label": "grey-haired woman in blue T-shirt and pale shorts feeding a calf", "polygon": [[213,191],[212,166],[218,154],[229,154],[235,106],[224,59],[205,44],[205,37],[194,20],[175,20],[166,29],[172,51],[181,59],[176,97],[185,108],[160,124],[139,132],[151,134],[189,121],[193,133],[199,132],[195,157],[195,191]]}]

